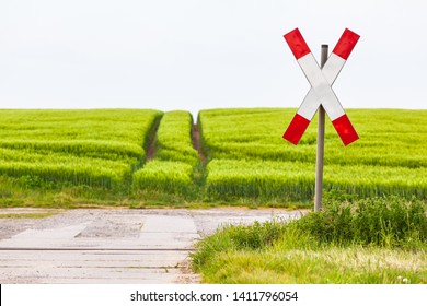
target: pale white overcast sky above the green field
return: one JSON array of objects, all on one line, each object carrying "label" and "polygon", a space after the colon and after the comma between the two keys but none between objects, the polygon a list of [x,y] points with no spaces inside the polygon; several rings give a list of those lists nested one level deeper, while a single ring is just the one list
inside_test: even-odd
[{"label": "pale white overcast sky above the green field", "polygon": [[298,107],[295,27],[318,59],[361,36],[344,108],[427,108],[422,0],[0,0],[0,108]]}]

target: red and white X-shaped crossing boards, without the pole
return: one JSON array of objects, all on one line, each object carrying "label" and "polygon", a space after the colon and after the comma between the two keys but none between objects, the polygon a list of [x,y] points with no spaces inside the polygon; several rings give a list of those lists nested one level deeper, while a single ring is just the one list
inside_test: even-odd
[{"label": "red and white X-shaped crossing boards, without the pole", "polygon": [[284,138],[298,144],[319,106],[322,105],[345,145],[358,140],[359,137],[332,90],[332,84],[360,36],[346,28],[322,70],[298,28],[285,34],[284,37],[311,84],[310,92]]}]

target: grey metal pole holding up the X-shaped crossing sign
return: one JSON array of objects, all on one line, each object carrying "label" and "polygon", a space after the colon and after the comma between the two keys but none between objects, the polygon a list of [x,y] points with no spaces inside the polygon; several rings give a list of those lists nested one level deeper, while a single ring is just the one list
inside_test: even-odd
[{"label": "grey metal pole holding up the X-shaped crossing sign", "polygon": [[[327,45],[322,45],[321,68],[327,60]],[[318,111],[318,154],[315,158],[315,186],[314,186],[314,211],[322,210],[323,189],[323,161],[325,151],[325,109],[321,105]]]}]

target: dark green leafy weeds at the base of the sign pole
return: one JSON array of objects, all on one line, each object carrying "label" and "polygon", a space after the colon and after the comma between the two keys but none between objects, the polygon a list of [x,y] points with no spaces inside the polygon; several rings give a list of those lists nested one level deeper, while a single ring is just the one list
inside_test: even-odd
[{"label": "dark green leafy weeds at the base of the sign pole", "polygon": [[414,247],[427,243],[426,203],[415,198],[371,198],[350,202],[326,202],[289,226],[326,244]]}]

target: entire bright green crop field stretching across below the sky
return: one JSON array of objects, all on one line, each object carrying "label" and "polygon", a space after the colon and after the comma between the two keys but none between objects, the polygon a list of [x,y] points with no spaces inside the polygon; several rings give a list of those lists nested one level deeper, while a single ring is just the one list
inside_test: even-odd
[{"label": "entire bright green crop field stretching across below the sky", "polygon": [[[281,136],[295,111],[201,110],[200,158],[188,111],[0,110],[0,204],[304,205],[313,198],[316,122],[299,145],[288,143]],[[325,193],[427,199],[427,110],[348,116],[360,137],[348,146],[326,125]]]}]

